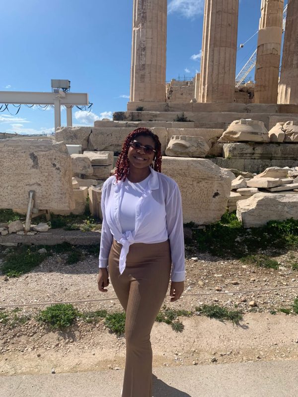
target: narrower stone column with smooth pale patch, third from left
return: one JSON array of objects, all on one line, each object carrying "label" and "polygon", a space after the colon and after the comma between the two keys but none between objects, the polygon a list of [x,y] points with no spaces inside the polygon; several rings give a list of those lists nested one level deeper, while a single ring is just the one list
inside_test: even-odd
[{"label": "narrower stone column with smooth pale patch, third from left", "polygon": [[255,103],[277,103],[284,0],[262,0],[255,71]]}]

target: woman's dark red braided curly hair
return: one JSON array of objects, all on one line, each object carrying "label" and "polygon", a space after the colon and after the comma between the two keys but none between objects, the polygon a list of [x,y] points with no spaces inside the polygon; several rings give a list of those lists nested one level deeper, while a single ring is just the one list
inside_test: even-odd
[{"label": "woman's dark red braided curly hair", "polygon": [[131,142],[138,136],[150,136],[154,140],[154,149],[156,152],[150,167],[153,168],[154,171],[161,172],[161,144],[158,136],[148,128],[137,128],[136,130],[130,132],[123,142],[122,151],[119,154],[118,160],[116,162],[116,171],[114,174],[116,177],[116,182],[124,182],[126,180],[129,170],[128,149],[130,148]]}]

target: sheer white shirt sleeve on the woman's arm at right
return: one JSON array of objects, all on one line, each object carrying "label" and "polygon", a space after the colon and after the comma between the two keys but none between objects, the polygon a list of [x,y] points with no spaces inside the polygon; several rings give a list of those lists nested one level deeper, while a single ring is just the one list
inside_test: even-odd
[{"label": "sheer white shirt sleeve on the woman's arm at right", "polygon": [[165,203],[166,226],[171,247],[172,257],[172,281],[185,280],[185,255],[184,234],[182,218],[182,200],[178,186],[176,185],[171,196]]}]

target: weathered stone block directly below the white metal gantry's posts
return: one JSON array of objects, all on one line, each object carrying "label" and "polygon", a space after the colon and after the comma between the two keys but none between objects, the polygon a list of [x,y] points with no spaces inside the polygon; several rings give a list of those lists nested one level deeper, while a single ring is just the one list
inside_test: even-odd
[{"label": "weathered stone block directly below the white metal gantry's posts", "polygon": [[91,127],[58,127],[55,133],[56,141],[65,144],[82,145],[82,150],[88,149]]}]

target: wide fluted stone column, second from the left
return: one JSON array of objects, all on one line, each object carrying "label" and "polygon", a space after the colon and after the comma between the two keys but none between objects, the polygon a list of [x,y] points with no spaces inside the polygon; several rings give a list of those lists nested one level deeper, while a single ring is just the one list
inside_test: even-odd
[{"label": "wide fluted stone column, second from the left", "polygon": [[205,0],[199,102],[233,102],[238,0]]}]

